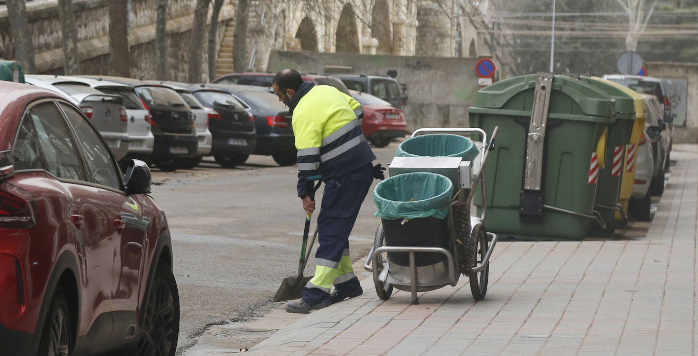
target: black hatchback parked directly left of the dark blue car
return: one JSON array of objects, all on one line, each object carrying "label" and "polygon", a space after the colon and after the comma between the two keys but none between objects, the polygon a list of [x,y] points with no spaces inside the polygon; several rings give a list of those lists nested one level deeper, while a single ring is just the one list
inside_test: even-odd
[{"label": "black hatchback parked directly left of the dark blue car", "polygon": [[215,88],[179,83],[190,91],[208,112],[213,135],[211,155],[225,168],[244,164],[258,145],[254,118],[234,95]]}]

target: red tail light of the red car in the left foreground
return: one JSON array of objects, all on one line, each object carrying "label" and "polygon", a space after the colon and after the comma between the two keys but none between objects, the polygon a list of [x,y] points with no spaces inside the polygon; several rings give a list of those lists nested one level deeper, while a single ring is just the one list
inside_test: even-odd
[{"label": "red tail light of the red car in the left foreground", "polygon": [[0,184],[0,228],[29,229],[36,225],[36,200],[10,183]]}]

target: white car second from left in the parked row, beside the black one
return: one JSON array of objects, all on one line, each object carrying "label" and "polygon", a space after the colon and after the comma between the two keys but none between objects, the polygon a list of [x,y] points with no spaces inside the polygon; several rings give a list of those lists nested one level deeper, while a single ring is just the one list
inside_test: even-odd
[{"label": "white car second from left in the parked row, beside the black one", "polygon": [[128,164],[131,158],[140,160],[150,160],[155,146],[155,137],[151,131],[151,123],[153,117],[150,112],[144,107],[143,102],[138,98],[138,94],[132,86],[107,82],[104,80],[90,79],[84,77],[70,77],[75,82],[81,82],[91,86],[92,88],[106,94],[119,95],[124,98],[124,107],[126,107],[126,116],[128,116],[128,127],[126,132],[131,139],[128,145],[128,154],[126,160],[121,160],[120,164]]}]

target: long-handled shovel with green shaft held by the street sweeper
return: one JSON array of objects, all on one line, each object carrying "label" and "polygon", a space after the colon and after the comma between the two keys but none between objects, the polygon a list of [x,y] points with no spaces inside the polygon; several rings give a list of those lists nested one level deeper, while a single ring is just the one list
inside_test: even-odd
[{"label": "long-handled shovel with green shaft held by the street sweeper", "polygon": [[[320,187],[322,183],[322,176],[311,176],[308,177],[306,182],[306,187],[308,187],[309,196],[311,200],[315,200],[315,190]],[[313,187],[313,181],[318,180],[318,184]],[[315,229],[313,233],[313,240],[311,240],[310,247],[306,251],[306,243],[308,242],[308,235],[310,233],[310,214],[306,215],[306,224],[303,229],[303,246],[301,247],[301,258],[298,262],[298,275],[297,277],[286,277],[281,281],[281,286],[279,290],[276,291],[274,295],[274,302],[281,302],[282,300],[294,300],[303,297],[303,288],[305,288],[308,281],[313,278],[313,276],[303,276],[303,270],[305,269],[306,263],[308,262],[308,257],[310,256],[310,251],[313,247],[313,242],[315,242],[315,235],[318,234],[318,229]]]}]

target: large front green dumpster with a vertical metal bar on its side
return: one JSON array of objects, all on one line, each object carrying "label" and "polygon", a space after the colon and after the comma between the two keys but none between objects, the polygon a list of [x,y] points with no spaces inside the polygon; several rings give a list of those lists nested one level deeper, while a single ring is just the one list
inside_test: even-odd
[{"label": "large front green dumpster with a vertical metal bar on its side", "polygon": [[615,100],[571,77],[538,73],[497,82],[468,108],[471,127],[500,127],[487,164],[487,230],[531,240],[581,240],[594,209]]}]

